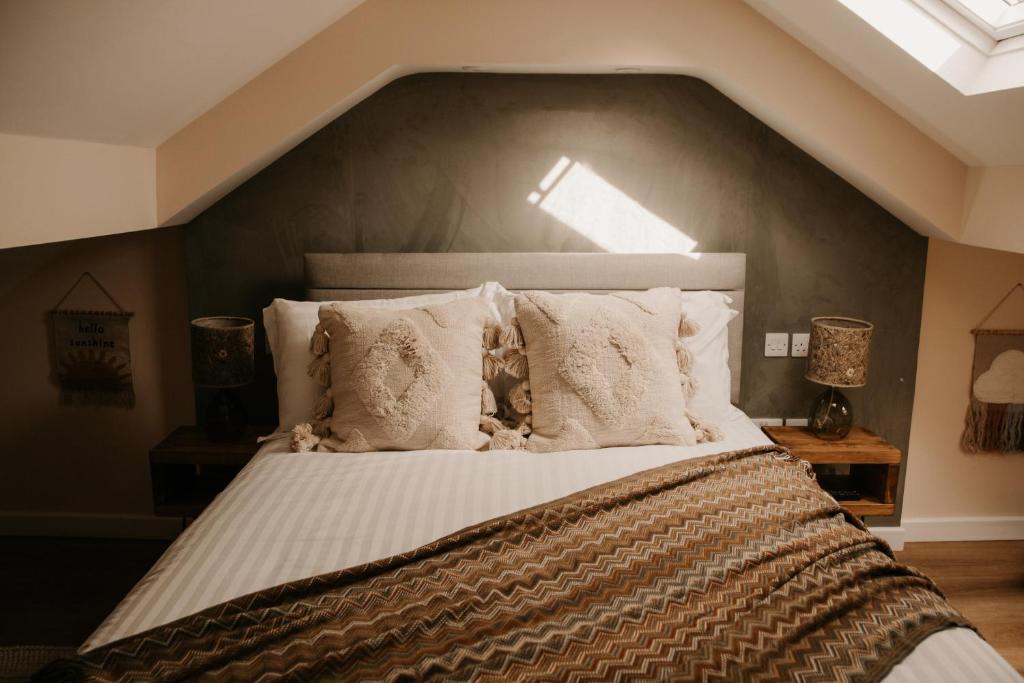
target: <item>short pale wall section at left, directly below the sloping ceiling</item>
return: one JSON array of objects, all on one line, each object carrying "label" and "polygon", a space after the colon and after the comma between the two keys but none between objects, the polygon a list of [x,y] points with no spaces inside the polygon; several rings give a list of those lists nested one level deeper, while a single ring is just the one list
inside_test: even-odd
[{"label": "short pale wall section at left, directly below the sloping ceiling", "polygon": [[0,249],[155,227],[156,154],[0,133]]}]

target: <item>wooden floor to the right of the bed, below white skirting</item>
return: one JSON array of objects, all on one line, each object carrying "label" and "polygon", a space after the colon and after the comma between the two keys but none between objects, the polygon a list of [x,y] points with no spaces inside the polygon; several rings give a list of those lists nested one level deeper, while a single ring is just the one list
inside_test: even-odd
[{"label": "wooden floor to the right of the bed, below white skirting", "polygon": [[896,557],[931,577],[1024,674],[1024,541],[908,543]]}]

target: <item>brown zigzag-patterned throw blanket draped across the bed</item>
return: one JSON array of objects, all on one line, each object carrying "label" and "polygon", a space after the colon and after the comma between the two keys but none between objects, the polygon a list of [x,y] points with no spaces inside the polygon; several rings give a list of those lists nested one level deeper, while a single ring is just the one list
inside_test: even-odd
[{"label": "brown zigzag-patterned throw blanket draped across the bed", "polygon": [[38,680],[877,681],[955,625],[809,466],[759,446],[253,593]]}]

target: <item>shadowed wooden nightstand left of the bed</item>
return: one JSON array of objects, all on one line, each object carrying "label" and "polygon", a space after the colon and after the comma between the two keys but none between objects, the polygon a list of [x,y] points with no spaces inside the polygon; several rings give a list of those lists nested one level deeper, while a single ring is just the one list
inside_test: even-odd
[{"label": "shadowed wooden nightstand left of the bed", "polygon": [[202,427],[178,427],[150,452],[153,512],[195,518],[248,463],[256,437],[272,427],[247,427],[238,441],[211,441]]}]

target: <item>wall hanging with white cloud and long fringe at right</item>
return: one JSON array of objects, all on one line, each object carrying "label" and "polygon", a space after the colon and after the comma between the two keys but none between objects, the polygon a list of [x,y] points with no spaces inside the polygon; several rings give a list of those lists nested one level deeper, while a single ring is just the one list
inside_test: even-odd
[{"label": "wall hanging with white cloud and long fringe at right", "polygon": [[984,325],[1024,283],[1017,283],[988,311],[974,335],[971,405],[961,445],[969,453],[1024,452],[1024,330]]}]

